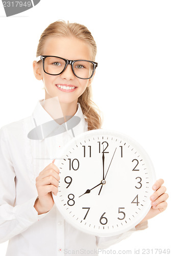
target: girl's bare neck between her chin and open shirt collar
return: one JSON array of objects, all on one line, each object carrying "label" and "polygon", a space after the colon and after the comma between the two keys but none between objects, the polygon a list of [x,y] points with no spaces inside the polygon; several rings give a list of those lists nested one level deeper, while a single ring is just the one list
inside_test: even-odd
[{"label": "girl's bare neck between her chin and open shirt collar", "polygon": [[[59,102],[58,97],[53,97],[48,99],[45,98],[43,108],[54,120],[64,117],[64,120],[66,122],[76,114],[77,101],[70,102],[70,103],[63,103],[63,102],[61,103]],[[67,118],[66,120],[66,116],[70,116],[70,118]],[[59,124],[62,124],[62,123],[59,123]]]}]

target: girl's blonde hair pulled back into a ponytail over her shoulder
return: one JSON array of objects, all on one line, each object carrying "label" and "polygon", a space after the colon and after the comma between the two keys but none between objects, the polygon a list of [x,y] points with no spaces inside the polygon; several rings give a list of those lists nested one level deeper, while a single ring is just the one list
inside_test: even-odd
[{"label": "girl's blonde hair pulled back into a ponytail over her shoulder", "polygon": [[[57,20],[57,22],[50,24],[40,36],[36,57],[42,55],[43,46],[49,36],[75,36],[76,38],[83,40],[91,47],[92,61],[95,61],[97,52],[96,44],[90,31],[84,25],[78,23],[66,23],[64,20]],[[82,112],[87,120],[88,130],[101,129],[101,112],[92,101],[91,85],[87,87],[84,93],[78,98],[78,102],[80,103]]]}]

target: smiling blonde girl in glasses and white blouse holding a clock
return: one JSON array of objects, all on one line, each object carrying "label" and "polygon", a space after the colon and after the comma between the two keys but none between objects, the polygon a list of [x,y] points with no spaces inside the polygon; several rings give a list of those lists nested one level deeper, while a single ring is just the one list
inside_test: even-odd
[{"label": "smiling blonde girl in glasses and white blouse holding a clock", "polygon": [[[40,37],[33,69],[44,83],[45,97],[38,101],[32,116],[0,131],[0,241],[9,240],[7,256],[97,255],[97,248],[107,248],[146,228],[147,220],[167,207],[168,195],[160,179],[153,185],[152,208],[135,228],[100,238],[70,226],[54,205],[52,193],[57,195],[60,180],[54,162],[61,148],[73,135],[102,126],[91,100],[95,55],[95,41],[80,24],[57,21]],[[65,124],[74,116],[80,117],[80,122],[67,130]],[[53,120],[58,125],[56,134],[52,127],[47,131],[44,126]]]}]

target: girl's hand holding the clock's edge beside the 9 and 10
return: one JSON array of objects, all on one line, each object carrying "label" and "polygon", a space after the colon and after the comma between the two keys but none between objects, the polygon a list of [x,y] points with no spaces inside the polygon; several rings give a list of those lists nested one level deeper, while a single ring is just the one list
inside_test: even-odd
[{"label": "girl's hand holding the clock's edge beside the 9 and 10", "polygon": [[35,201],[34,207],[38,214],[44,214],[52,209],[54,205],[52,192],[54,195],[57,195],[58,193],[58,185],[60,180],[59,169],[54,162],[55,160],[48,164],[36,178],[38,198]]}]

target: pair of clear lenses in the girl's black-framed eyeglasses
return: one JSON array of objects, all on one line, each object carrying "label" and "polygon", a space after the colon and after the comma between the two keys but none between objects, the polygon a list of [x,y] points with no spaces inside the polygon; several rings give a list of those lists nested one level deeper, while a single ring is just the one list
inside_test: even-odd
[{"label": "pair of clear lenses in the girl's black-framed eyeglasses", "polygon": [[[93,72],[93,63],[88,61],[76,61],[73,64],[75,74],[80,78],[89,78]],[[51,75],[60,74],[65,68],[65,60],[57,57],[46,57],[44,70]]]}]

